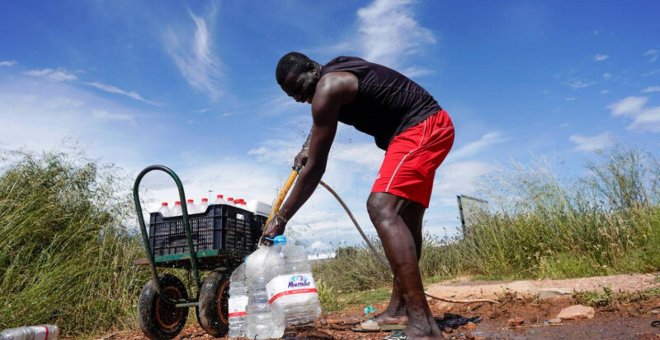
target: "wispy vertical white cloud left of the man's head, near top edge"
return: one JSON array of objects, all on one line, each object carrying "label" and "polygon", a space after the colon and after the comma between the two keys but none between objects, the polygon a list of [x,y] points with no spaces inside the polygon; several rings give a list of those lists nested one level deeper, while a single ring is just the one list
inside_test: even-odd
[{"label": "wispy vertical white cloud left of the man's head, near top edge", "polygon": [[[213,18],[217,7],[207,14]],[[169,27],[165,34],[165,48],[186,81],[197,90],[216,100],[223,91],[220,86],[222,65],[212,49],[213,36],[207,19],[190,12],[195,24],[194,32]]]}]

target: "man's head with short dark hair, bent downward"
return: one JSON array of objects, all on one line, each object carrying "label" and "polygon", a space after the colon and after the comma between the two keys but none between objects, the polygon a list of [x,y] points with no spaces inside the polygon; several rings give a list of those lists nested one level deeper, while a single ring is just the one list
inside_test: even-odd
[{"label": "man's head with short dark hair, bent downward", "polygon": [[320,76],[319,64],[298,52],[285,54],[275,70],[275,78],[282,90],[301,103],[312,102]]}]

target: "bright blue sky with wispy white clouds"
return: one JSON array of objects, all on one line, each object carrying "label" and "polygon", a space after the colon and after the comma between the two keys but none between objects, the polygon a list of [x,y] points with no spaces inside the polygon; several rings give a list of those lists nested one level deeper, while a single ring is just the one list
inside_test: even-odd
[{"label": "bright blue sky with wispy white clouds", "polygon": [[[0,148],[77,144],[133,178],[172,167],[189,196],[271,201],[310,126],[274,80],[297,50],[409,75],[456,126],[425,228],[455,233],[455,197],[511,159],[578,175],[616,143],[660,146],[657,1],[4,1]],[[383,153],[340,127],[324,180],[369,233]],[[122,188],[129,190],[127,188]],[[159,175],[150,206],[173,201]],[[359,235],[319,189],[291,221],[311,249]]]}]

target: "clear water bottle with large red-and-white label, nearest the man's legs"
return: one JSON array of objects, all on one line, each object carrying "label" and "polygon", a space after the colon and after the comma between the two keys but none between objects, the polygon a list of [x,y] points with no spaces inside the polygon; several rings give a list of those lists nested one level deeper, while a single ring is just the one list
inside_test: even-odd
[{"label": "clear water bottle with large red-and-white label, nearest the man's legs", "polygon": [[287,325],[314,322],[321,316],[321,304],[307,252],[287,244],[284,235],[275,237],[273,248],[279,249],[285,261],[271,269],[273,274],[266,285],[268,301],[273,310],[284,313]]}]

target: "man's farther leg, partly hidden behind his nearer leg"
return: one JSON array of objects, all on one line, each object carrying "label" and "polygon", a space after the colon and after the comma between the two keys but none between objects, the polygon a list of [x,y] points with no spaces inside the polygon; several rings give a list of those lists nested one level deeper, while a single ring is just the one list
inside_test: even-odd
[{"label": "man's farther leg, partly hidden behind his nearer leg", "polygon": [[[400,214],[403,222],[410,230],[415,242],[415,250],[418,263],[422,255],[422,221],[425,211],[426,209],[423,205],[417,202],[409,202],[407,206],[403,208],[403,211]],[[395,276],[394,283],[392,285],[392,296],[390,297],[390,303],[385,311],[376,317],[378,324],[383,325],[408,323],[408,317],[406,316],[406,304],[403,302],[403,297],[401,294],[401,284]]]}]

